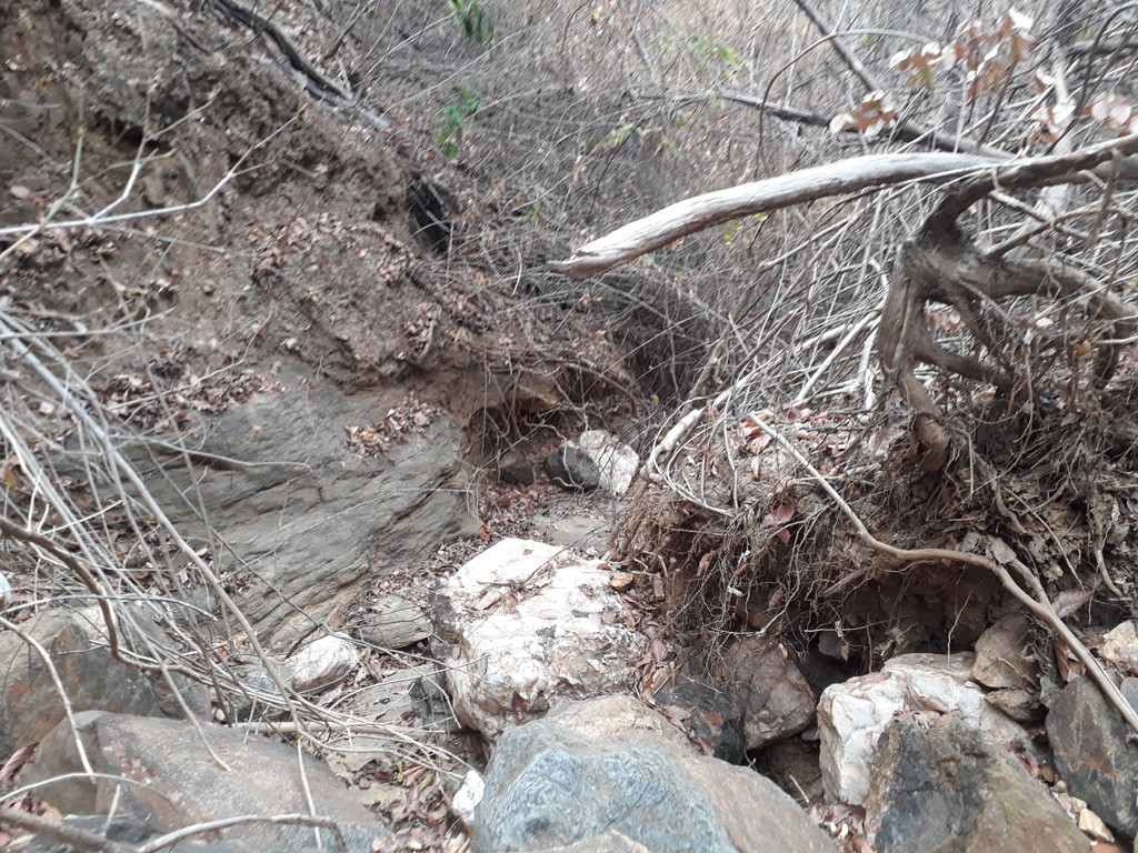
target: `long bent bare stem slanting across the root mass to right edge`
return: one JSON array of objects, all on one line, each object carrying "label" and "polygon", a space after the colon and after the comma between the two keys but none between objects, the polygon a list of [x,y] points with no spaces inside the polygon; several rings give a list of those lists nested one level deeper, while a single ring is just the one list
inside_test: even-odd
[{"label": "long bent bare stem slanting across the root mass to right edge", "polygon": [[[846,499],[838,494],[838,490],[830,483],[830,481],[822,475],[822,473],[810,464],[810,462],[794,447],[786,438],[777,430],[772,429],[769,425],[760,421],[759,419],[753,419],[754,423],[758,424],[767,436],[778,442],[778,445],[789,453],[806,471],[810,477],[822,487],[823,491],[830,497],[831,500],[841,510],[842,514],[850,520],[853,528],[857,530],[858,538],[865,543],[868,547],[873,548],[881,554],[888,554],[894,560],[899,560],[906,563],[914,562],[930,562],[930,561],[946,561],[953,563],[966,563],[967,565],[980,566],[981,569],[987,569],[997,578],[999,578],[1000,583],[1004,588],[1011,593],[1015,598],[1023,604],[1028,610],[1030,610],[1036,616],[1039,618],[1044,624],[1050,628],[1055,633],[1057,633],[1064,644],[1074,653],[1079,661],[1087,668],[1090,677],[1095,680],[1098,687],[1110,699],[1111,704],[1122,714],[1122,719],[1127,721],[1136,732],[1138,732],[1138,712],[1130,706],[1130,703],[1123,698],[1122,693],[1115,686],[1111,677],[1106,674],[1106,671],[1099,665],[1098,661],[1090,651],[1082,644],[1074,632],[1066,627],[1062,619],[1055,613],[1052,607],[1050,602],[1047,599],[1047,593],[1044,590],[1042,586],[1039,583],[1039,579],[1036,578],[1034,573],[1019,560],[1013,558],[1008,561],[1008,564],[1019,572],[1026,583],[1031,587],[1031,591],[1024,590],[1019,582],[1011,575],[1007,569],[1004,568],[996,560],[982,556],[980,554],[966,554],[963,550],[955,550],[951,548],[897,548],[892,545],[881,541],[873,533],[869,532],[865,523],[858,516],[853,508],[846,502]],[[831,588],[832,589],[832,588]],[[827,593],[830,590],[826,590]]]}]

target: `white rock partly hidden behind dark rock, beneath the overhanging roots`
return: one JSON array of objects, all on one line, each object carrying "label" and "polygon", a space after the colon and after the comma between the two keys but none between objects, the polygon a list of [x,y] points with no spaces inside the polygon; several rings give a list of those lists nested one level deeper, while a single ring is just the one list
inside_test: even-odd
[{"label": "white rock partly hidden behind dark rock, beneath the overhanging roots", "polygon": [[869,792],[869,769],[885,727],[901,713],[930,720],[953,714],[998,743],[1031,744],[1026,730],[984,702],[970,681],[974,655],[910,654],[881,672],[831,685],[818,702],[822,782],[826,798],[860,805]]}]

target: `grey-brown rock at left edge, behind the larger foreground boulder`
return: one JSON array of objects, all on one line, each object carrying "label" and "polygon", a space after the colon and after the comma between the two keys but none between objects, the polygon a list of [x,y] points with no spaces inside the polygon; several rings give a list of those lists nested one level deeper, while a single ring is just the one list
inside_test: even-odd
[{"label": "grey-brown rock at left edge, behind the larger foreground boulder", "polygon": [[[163,696],[140,670],[118,663],[92,641],[96,631],[79,615],[49,611],[22,629],[43,646],[72,710],[160,715]],[[40,654],[11,631],[0,632],[0,755],[34,744],[66,718]]]}]

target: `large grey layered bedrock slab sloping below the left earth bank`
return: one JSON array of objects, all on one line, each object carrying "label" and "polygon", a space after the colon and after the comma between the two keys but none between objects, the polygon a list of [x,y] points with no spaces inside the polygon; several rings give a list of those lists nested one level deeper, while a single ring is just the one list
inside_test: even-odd
[{"label": "large grey layered bedrock slab sloping below the left earth bank", "polygon": [[[287,648],[313,621],[335,624],[369,579],[477,532],[463,488],[467,439],[451,419],[439,415],[386,454],[363,457],[346,446],[345,426],[382,420],[391,403],[283,364],[273,390],[203,416],[200,434],[187,439],[216,464],[170,465],[147,479],[183,531],[200,528],[200,502],[233,548],[233,565],[247,566],[248,586],[234,598],[263,643]],[[150,449],[137,462],[152,466]]]}]

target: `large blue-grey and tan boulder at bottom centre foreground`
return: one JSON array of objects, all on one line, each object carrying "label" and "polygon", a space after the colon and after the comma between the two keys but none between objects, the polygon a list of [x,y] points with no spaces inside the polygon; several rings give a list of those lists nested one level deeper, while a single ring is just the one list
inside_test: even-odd
[{"label": "large blue-grey and tan boulder at bottom centre foreground", "polygon": [[[574,709],[578,722],[592,703]],[[588,723],[604,727],[604,710]],[[646,706],[641,719],[655,717]],[[757,773],[661,742],[597,739],[558,718],[498,739],[475,808],[472,850],[832,853],[782,790]]]}]

